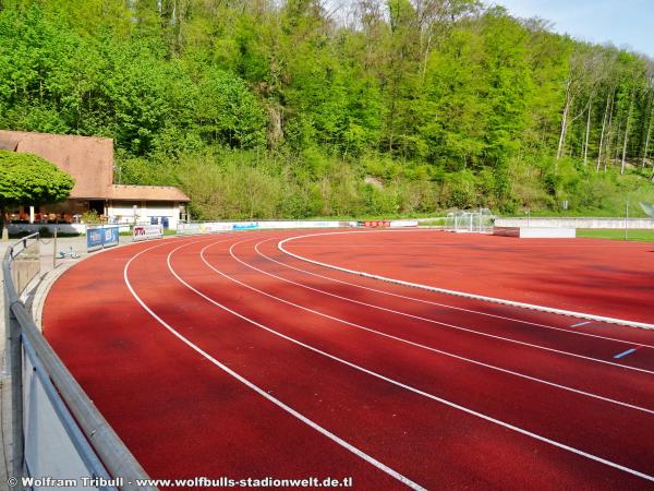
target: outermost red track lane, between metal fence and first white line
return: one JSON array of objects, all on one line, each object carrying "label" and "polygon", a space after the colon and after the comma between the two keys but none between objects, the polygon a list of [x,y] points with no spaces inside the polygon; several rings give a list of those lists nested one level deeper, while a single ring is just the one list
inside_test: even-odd
[{"label": "outermost red track lane, between metal fence and first white line", "polygon": [[[166,280],[160,261],[185,242],[147,242],[89,258],[57,280],[44,312],[48,340],[150,477],[352,476],[391,489],[395,479],[299,424],[137,304],[123,283],[125,263],[164,246],[138,258],[140,267],[152,262],[145,274],[152,272],[153,288],[161,284],[158,304],[175,304],[183,316],[186,306],[170,300],[184,288]],[[231,321],[211,314],[202,328],[228,328]],[[250,349],[232,342],[237,351]]]}]

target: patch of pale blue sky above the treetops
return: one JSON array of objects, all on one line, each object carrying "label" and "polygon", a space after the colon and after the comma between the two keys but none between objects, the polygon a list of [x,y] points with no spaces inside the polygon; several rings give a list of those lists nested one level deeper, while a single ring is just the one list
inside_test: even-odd
[{"label": "patch of pale blue sky above the treetops", "polygon": [[654,58],[654,0],[486,0],[518,17],[541,17],[553,31],[613,43]]}]

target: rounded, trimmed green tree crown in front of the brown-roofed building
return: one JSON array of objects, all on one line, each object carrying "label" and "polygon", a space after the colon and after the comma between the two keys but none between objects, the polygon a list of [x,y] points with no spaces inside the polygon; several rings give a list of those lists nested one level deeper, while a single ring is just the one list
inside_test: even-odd
[{"label": "rounded, trimmed green tree crown in front of the brown-roofed building", "polygon": [[0,213],[9,205],[65,200],[75,181],[55,164],[32,154],[0,151]]}]

